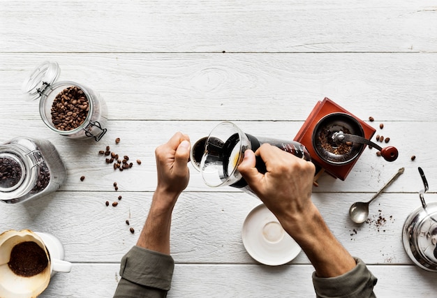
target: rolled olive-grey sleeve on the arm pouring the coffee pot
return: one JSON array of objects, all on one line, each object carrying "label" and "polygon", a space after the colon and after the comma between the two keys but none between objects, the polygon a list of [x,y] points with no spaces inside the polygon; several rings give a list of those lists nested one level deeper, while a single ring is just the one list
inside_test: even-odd
[{"label": "rolled olive-grey sleeve on the arm pouring the coffee pot", "polygon": [[373,286],[378,279],[371,274],[366,264],[355,258],[357,266],[341,276],[320,278],[313,273],[314,290],[319,298],[369,298],[376,297]]}]

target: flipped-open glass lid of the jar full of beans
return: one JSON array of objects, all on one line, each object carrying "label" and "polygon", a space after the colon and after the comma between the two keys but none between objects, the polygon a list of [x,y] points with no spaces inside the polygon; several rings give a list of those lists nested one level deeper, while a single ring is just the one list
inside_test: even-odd
[{"label": "flipped-open glass lid of the jar full of beans", "polygon": [[43,91],[59,77],[61,68],[57,62],[44,61],[24,80],[22,92],[26,100],[40,98]]}]

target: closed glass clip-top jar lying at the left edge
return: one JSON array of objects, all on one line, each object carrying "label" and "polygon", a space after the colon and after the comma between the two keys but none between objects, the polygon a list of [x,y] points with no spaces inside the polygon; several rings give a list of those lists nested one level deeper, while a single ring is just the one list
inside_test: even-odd
[{"label": "closed glass clip-top jar lying at the left edge", "polygon": [[57,191],[67,177],[66,167],[47,140],[15,137],[0,144],[0,201],[9,204]]}]

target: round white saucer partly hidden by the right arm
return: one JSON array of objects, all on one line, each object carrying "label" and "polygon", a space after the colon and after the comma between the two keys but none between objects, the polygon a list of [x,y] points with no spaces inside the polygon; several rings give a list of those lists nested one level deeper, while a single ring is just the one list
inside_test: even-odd
[{"label": "round white saucer partly hidden by the right arm", "polygon": [[302,250],[264,204],[258,205],[246,216],[242,239],[249,255],[264,265],[286,264]]}]

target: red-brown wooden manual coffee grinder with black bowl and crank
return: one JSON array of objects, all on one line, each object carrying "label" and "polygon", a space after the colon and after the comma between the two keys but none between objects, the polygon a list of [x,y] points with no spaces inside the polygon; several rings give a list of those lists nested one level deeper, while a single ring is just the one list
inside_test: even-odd
[{"label": "red-brown wooden manual coffee grinder with black bowl and crank", "polygon": [[314,184],[317,186],[323,172],[344,181],[366,144],[379,150],[386,161],[395,161],[396,148],[381,148],[370,141],[375,132],[375,128],[325,98],[313,108],[294,140],[309,151],[316,165]]}]

